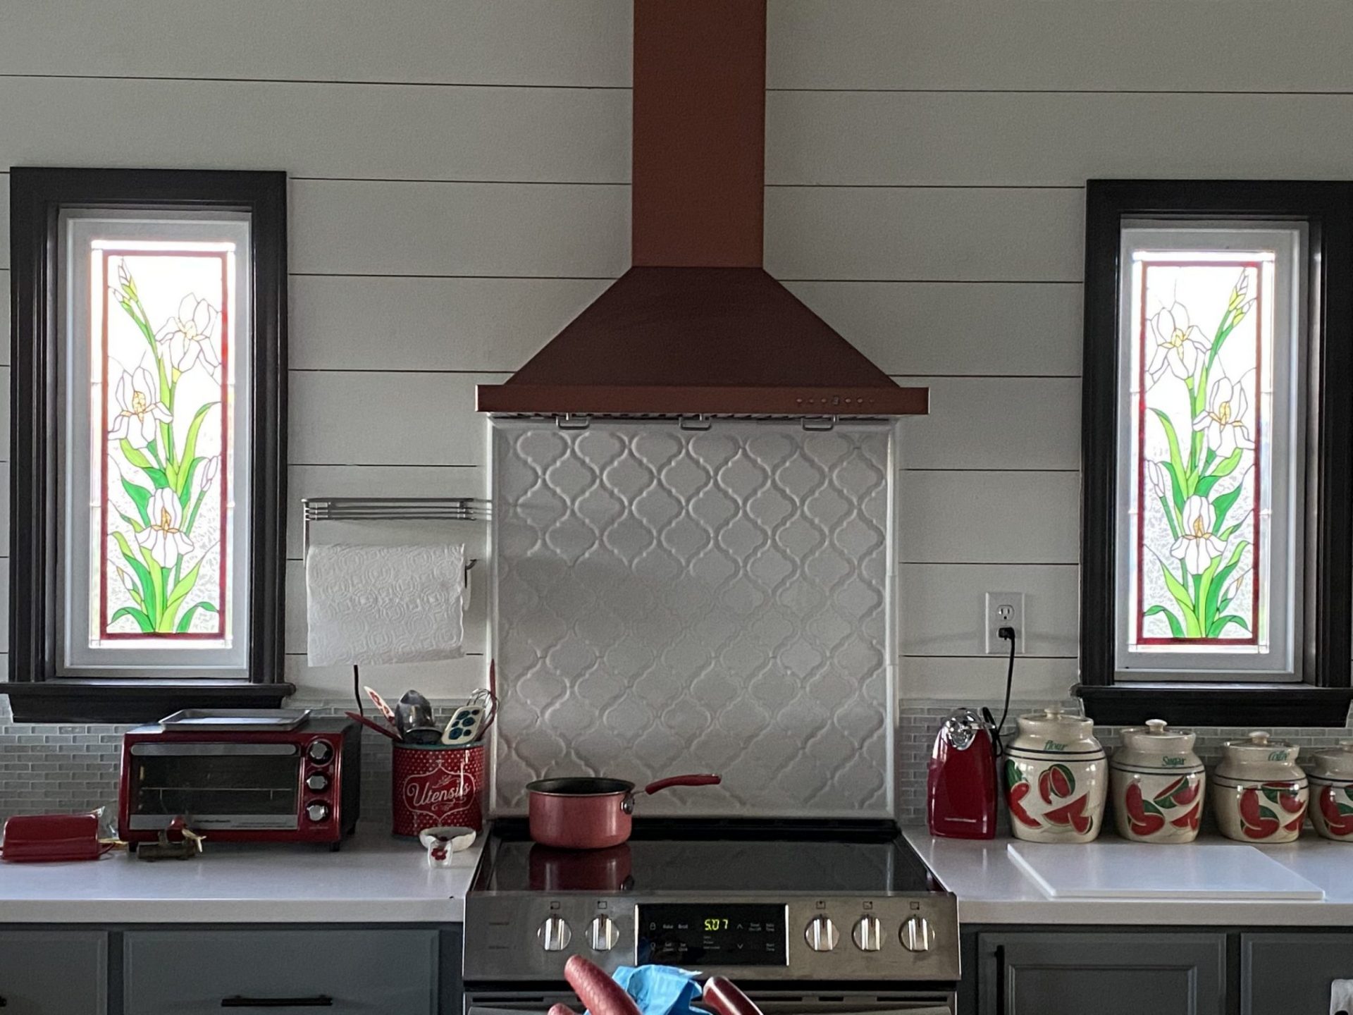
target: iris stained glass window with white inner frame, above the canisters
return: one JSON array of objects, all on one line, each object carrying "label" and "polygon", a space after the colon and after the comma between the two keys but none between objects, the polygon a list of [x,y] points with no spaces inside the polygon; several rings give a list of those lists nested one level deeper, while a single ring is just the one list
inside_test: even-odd
[{"label": "iris stained glass window with white inner frame, above the canisters", "polygon": [[1124,230],[1119,667],[1291,667],[1300,235]]}]

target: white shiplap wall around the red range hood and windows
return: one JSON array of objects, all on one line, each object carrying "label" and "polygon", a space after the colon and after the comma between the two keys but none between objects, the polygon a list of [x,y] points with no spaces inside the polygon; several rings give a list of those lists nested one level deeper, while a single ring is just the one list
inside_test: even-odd
[{"label": "white shiplap wall around the red range hood and windows", "polygon": [[[482,489],[474,384],[628,264],[629,0],[0,0],[0,166],[292,175],[292,509]],[[1350,39],[1344,0],[770,0],[767,267],[932,388],[907,697],[990,697],[986,590],[1028,595],[1020,696],[1074,679],[1084,180],[1349,175]]]}]

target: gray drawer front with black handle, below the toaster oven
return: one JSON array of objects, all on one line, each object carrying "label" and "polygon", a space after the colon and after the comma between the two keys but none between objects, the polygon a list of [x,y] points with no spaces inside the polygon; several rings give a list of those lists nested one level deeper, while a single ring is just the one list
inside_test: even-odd
[{"label": "gray drawer front with black handle, below the toaster oven", "polygon": [[440,941],[436,930],[129,930],[124,1015],[434,1015]]}]

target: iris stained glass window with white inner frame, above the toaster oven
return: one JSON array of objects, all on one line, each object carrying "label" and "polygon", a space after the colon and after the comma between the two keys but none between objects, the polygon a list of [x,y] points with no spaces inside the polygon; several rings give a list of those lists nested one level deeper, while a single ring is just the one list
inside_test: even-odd
[{"label": "iris stained glass window with white inner frame, above the toaster oven", "polygon": [[242,667],[248,222],[66,225],[68,662]]}]

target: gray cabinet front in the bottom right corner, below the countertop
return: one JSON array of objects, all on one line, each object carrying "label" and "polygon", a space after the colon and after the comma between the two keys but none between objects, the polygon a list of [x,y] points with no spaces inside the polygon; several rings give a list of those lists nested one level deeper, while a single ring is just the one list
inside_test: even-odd
[{"label": "gray cabinet front in the bottom right corner, below the countertop", "polygon": [[1241,935],[1242,1015],[1326,1015],[1333,980],[1353,980],[1353,934]]}]

